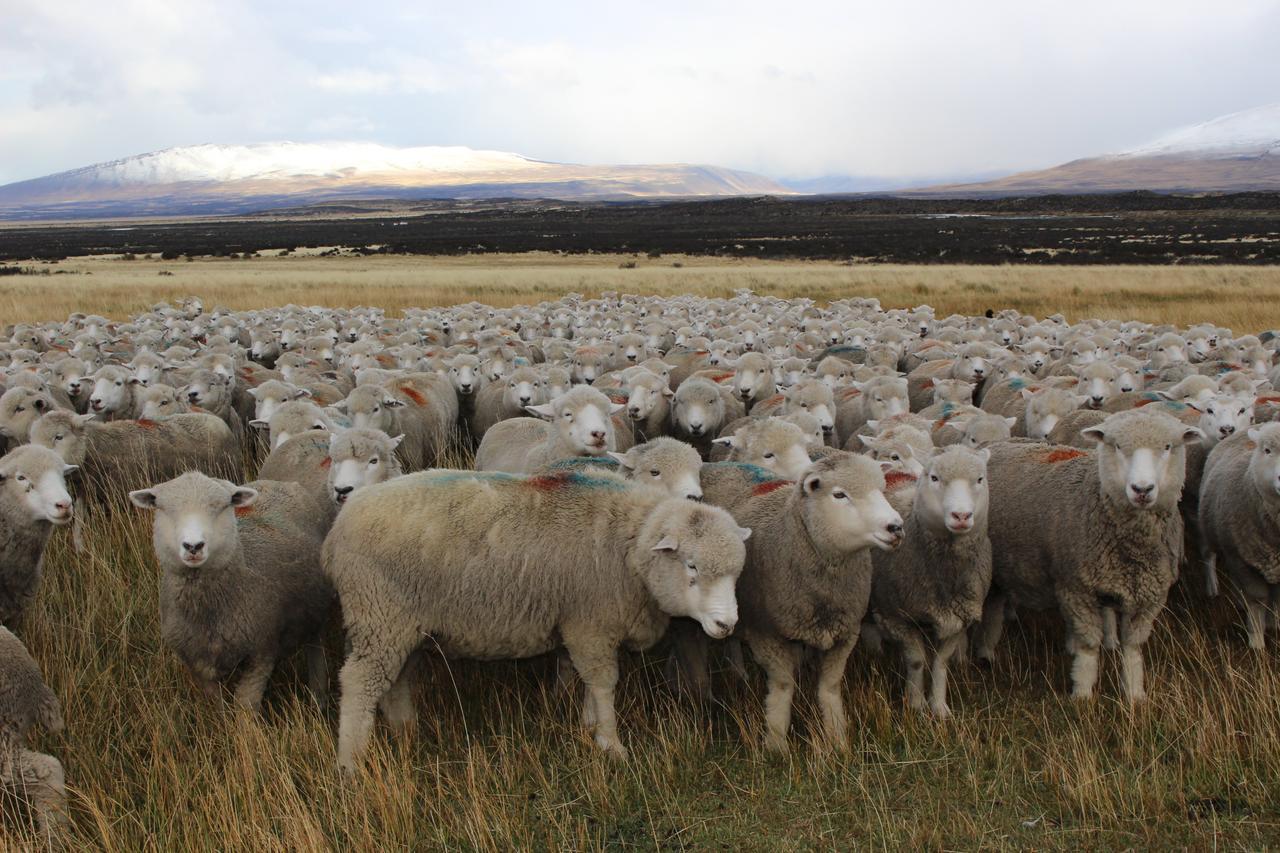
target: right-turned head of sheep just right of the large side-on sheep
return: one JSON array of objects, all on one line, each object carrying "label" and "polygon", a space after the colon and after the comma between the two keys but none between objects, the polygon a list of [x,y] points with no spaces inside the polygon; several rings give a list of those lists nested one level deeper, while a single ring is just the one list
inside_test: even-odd
[{"label": "right-turned head of sheep just right of the large side-on sheep", "polygon": [[850,553],[902,542],[902,516],[884,498],[884,474],[865,456],[813,465],[800,480],[804,525],[815,543]]}]

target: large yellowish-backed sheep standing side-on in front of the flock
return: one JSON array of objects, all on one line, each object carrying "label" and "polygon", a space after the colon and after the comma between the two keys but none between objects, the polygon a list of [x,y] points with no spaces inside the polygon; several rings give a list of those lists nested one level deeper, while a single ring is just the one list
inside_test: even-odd
[{"label": "large yellowish-backed sheep standing side-on in front of the flock", "polygon": [[618,648],[654,644],[671,616],[717,638],[732,631],[749,535],[721,508],[603,471],[424,471],[360,491],[323,551],[351,649],[338,766],[355,771],[376,704],[394,727],[411,724],[403,669],[424,639],[449,657],[563,646],[588,688],[584,721],[602,749],[625,757]]}]

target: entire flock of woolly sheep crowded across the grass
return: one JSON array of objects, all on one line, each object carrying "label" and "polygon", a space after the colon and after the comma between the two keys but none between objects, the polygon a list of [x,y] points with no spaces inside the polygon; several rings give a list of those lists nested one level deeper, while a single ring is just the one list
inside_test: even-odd
[{"label": "entire flock of woolly sheep crowded across the grass", "polygon": [[[0,781],[49,825],[61,765],[26,738],[61,715],[10,629],[52,528],[79,544],[69,489],[154,514],[163,638],[211,699],[260,707],[305,651],[324,703],[340,611],[344,771],[379,710],[413,724],[434,653],[559,653],[625,756],[622,648],[662,644],[701,698],[714,656],[746,674],[745,647],[785,749],[805,667],[820,735],[846,743],[859,637],[946,717],[948,663],[992,658],[1016,610],[1061,613],[1082,699],[1102,648],[1144,698],[1142,647],[1188,565],[1208,594],[1226,571],[1251,647],[1276,626],[1266,333],[744,291],[402,318],[189,298],[5,337]],[[475,470],[440,467],[471,451]]]}]

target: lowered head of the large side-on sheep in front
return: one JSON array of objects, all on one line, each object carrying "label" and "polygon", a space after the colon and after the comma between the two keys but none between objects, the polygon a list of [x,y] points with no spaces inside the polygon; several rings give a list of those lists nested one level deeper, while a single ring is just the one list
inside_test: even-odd
[{"label": "lowered head of the large side-on sheep in front", "polygon": [[737,625],[735,588],[746,558],[746,538],[719,507],[689,501],[663,501],[650,514],[641,535],[648,543],[643,576],[663,612],[698,620],[716,639]]}]

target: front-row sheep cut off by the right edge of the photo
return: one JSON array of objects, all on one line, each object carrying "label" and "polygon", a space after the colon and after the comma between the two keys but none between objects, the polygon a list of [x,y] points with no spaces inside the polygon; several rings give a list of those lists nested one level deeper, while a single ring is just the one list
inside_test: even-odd
[{"label": "front-row sheep cut off by the right edge of the photo", "polygon": [[1210,451],[1198,524],[1206,576],[1219,561],[1240,590],[1249,648],[1266,648],[1280,606],[1280,424],[1228,438]]}]

